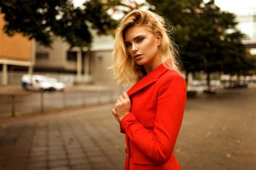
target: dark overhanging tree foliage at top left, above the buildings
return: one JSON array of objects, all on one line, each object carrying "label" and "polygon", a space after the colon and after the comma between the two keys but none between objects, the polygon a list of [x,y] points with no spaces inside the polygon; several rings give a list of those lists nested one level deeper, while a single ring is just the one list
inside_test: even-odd
[{"label": "dark overhanging tree foliage at top left, above the buildings", "polygon": [[50,46],[53,36],[62,37],[71,47],[90,47],[90,28],[98,34],[110,33],[117,25],[107,14],[99,0],[85,1],[74,8],[72,0],[2,0],[0,12],[4,14],[4,31],[13,36],[22,33]]}]

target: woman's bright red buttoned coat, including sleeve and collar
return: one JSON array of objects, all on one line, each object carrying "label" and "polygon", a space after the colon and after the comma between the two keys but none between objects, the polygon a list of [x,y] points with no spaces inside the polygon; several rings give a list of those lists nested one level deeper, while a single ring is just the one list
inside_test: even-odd
[{"label": "woman's bright red buttoned coat, including sleeve and collar", "polygon": [[180,169],[173,148],[186,104],[186,82],[163,64],[131,87],[131,112],[120,122],[127,170]]}]

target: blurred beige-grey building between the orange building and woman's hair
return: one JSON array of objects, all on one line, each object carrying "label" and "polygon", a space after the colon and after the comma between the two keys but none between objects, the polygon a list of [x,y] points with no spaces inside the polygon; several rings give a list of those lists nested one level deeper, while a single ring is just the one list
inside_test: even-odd
[{"label": "blurred beige-grey building between the orange building and woman's hair", "polygon": [[[76,74],[77,83],[114,84],[112,70],[113,37],[96,36],[90,52],[70,48],[67,42],[55,37],[51,48],[36,45],[36,72]],[[75,83],[76,83],[75,82]]]}]

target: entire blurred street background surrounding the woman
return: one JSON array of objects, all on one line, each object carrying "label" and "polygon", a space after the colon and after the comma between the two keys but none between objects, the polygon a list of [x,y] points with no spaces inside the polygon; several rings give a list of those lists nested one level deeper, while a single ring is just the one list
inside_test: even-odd
[{"label": "entire blurred street background surrounding the woman", "polygon": [[123,168],[111,109],[130,87],[108,68],[115,29],[134,9],[165,17],[179,48],[181,168],[256,168],[256,1],[2,0],[1,169]]}]

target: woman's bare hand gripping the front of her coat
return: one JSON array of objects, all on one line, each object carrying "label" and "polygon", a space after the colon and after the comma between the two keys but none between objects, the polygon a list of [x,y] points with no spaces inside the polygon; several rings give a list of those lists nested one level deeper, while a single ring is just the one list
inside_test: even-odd
[{"label": "woman's bare hand gripping the front of her coat", "polygon": [[131,101],[128,94],[124,91],[122,96],[119,96],[117,102],[114,104],[112,114],[114,118],[120,123],[122,118],[130,113]]}]

